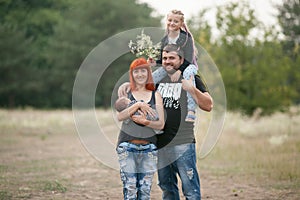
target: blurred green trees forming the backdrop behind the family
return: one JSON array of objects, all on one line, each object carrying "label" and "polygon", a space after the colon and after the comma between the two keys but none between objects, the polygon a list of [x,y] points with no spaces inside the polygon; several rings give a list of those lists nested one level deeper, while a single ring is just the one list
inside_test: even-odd
[{"label": "blurred green trees forming the backdrop behind the family", "polygon": [[[209,9],[188,21],[219,67],[229,109],[252,114],[262,108],[269,114],[299,103],[299,1],[285,0],[277,8],[284,40],[245,1],[217,9],[218,38],[205,20]],[[0,1],[0,106],[71,107],[76,73],[89,52],[122,31],[160,26],[152,11],[136,0]],[[110,106],[133,58],[123,55],[105,70],[96,106]]]}]

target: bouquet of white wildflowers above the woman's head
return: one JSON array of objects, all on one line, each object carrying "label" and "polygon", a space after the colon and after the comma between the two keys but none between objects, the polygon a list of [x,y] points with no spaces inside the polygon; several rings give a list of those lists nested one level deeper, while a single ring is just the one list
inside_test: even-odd
[{"label": "bouquet of white wildflowers above the woman's head", "polygon": [[149,35],[142,30],[141,35],[137,35],[136,41],[130,40],[129,49],[136,57],[144,56],[146,58],[157,59],[160,55],[160,42],[153,44]]}]

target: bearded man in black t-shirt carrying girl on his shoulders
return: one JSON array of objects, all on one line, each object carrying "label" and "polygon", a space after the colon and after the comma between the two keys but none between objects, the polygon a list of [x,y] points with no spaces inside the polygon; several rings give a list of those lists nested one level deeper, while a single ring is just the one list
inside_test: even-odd
[{"label": "bearded man in black t-shirt carrying girl on his shoulders", "polygon": [[[164,200],[179,200],[177,174],[182,182],[186,199],[201,199],[200,180],[196,166],[194,124],[185,122],[187,114],[186,92],[189,92],[198,106],[211,111],[213,101],[201,79],[195,76],[196,87],[190,80],[180,78],[172,82],[173,74],[183,63],[183,52],[176,45],[167,45],[162,53],[162,66],[168,76],[157,84],[163,97],[166,111],[164,133],[158,137],[158,179]],[[155,72],[153,73],[155,77]],[[197,87],[199,89],[197,89]]]}]

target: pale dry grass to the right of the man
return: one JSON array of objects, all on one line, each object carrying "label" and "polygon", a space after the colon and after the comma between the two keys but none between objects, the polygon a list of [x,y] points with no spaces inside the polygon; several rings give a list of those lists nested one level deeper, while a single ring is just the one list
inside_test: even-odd
[{"label": "pale dry grass to the right of the man", "polygon": [[[300,188],[300,110],[272,116],[227,113],[222,136],[203,167],[270,187]],[[299,190],[298,190],[299,192]]]}]

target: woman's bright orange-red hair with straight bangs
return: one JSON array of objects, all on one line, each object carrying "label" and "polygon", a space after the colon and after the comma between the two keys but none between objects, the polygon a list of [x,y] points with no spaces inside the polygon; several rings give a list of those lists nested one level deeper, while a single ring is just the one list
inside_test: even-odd
[{"label": "woman's bright orange-red hair with straight bangs", "polygon": [[148,79],[146,82],[146,89],[147,90],[151,90],[154,91],[155,90],[155,86],[154,86],[154,82],[153,82],[153,77],[152,77],[152,71],[151,71],[151,67],[150,65],[147,63],[145,58],[137,58],[134,61],[132,61],[132,63],[130,64],[130,70],[129,70],[129,80],[130,80],[130,89],[131,91],[136,90],[136,84],[135,81],[133,79],[133,75],[132,72],[134,69],[137,68],[145,68],[148,71]]}]

